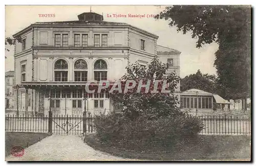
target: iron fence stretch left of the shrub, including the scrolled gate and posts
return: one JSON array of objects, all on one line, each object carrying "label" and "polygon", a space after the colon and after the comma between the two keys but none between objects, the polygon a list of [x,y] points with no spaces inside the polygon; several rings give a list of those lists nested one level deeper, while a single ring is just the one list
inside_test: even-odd
[{"label": "iron fence stretch left of the shrub, including the scrolled gate and posts", "polygon": [[34,115],[6,115],[6,132],[45,132],[52,134],[83,134],[95,132],[93,127],[94,117],[84,112],[83,116],[61,115],[47,116]]}]

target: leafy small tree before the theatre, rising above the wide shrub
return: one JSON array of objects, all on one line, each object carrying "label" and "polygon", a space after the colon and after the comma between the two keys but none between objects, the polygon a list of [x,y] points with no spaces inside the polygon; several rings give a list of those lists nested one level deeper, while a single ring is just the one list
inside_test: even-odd
[{"label": "leafy small tree before the theatre, rising above the wide shrub", "polygon": [[[162,64],[157,57],[146,67],[138,63],[127,66],[126,74],[121,78],[122,86],[124,87],[127,80],[134,80],[136,86],[127,93],[118,93],[117,91],[111,93],[114,107],[121,109],[121,112],[132,120],[141,115],[151,115],[152,118],[159,118],[182,114],[178,107],[178,97],[174,94],[179,77],[175,72],[166,75],[166,71],[167,65]],[[143,84],[151,80],[148,92],[145,91],[145,88],[142,88],[142,91],[137,93],[140,80],[143,80]],[[170,93],[153,93],[155,80],[162,80],[158,84],[157,90],[159,92],[162,90],[163,80],[166,80],[169,84],[166,90],[170,90]]]}]

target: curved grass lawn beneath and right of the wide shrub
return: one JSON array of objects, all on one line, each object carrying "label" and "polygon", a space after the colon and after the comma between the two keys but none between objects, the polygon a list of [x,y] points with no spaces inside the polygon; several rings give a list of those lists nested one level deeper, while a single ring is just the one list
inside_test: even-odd
[{"label": "curved grass lawn beneath and right of the wide shrub", "polygon": [[244,160],[250,161],[250,136],[244,135],[199,135],[202,143],[193,143],[180,148],[179,151],[164,152],[158,147],[154,153],[139,152],[136,150],[123,150],[108,147],[95,141],[94,134],[86,137],[86,143],[100,151],[116,156],[147,160]]}]

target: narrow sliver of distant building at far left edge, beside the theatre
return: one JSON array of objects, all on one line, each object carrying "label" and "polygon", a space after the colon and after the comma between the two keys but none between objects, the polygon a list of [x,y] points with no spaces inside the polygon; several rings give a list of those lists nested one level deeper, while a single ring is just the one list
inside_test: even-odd
[{"label": "narrow sliver of distant building at far left edge, beside the theatre", "polygon": [[13,94],[13,80],[14,80],[14,71],[7,71],[5,73],[5,109],[13,110],[14,109],[14,94]]}]

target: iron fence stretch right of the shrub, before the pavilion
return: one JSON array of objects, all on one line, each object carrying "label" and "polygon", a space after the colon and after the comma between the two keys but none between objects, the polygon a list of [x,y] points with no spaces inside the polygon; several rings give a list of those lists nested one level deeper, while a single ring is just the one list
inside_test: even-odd
[{"label": "iron fence stretch right of the shrub, before the pavilion", "polygon": [[207,115],[199,117],[204,128],[200,134],[250,135],[251,119],[244,116]]}]

